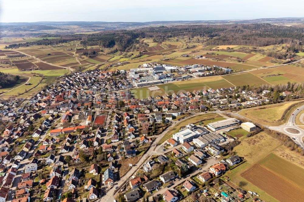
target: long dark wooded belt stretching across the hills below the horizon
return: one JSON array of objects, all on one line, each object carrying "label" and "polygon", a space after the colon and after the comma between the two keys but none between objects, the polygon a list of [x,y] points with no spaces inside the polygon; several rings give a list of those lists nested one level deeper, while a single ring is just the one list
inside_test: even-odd
[{"label": "long dark wooded belt stretching across the hills below the horizon", "polygon": [[133,30],[108,30],[96,34],[57,35],[60,39],[43,39],[35,42],[12,44],[7,48],[17,48],[29,45],[56,45],[58,43],[81,40],[82,45],[99,45],[100,47],[113,47],[125,51],[138,43],[138,38],[154,38],[158,42],[168,38],[188,36],[206,37],[206,45],[251,45],[267,46],[282,43],[297,43],[302,45],[304,40],[304,27],[278,26],[267,23],[234,24],[234,25],[178,25],[145,27]]}]

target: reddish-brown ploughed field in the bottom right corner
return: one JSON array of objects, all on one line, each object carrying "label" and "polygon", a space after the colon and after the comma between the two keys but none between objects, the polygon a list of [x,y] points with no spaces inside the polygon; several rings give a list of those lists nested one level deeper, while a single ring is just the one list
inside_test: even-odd
[{"label": "reddish-brown ploughed field in the bottom right corner", "polygon": [[280,201],[299,201],[304,195],[304,190],[257,164],[241,176]]}]

